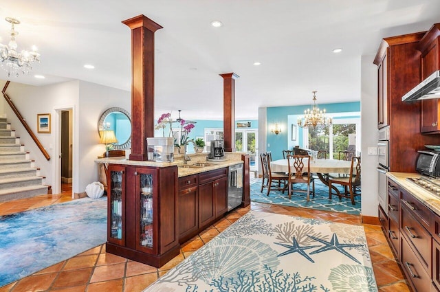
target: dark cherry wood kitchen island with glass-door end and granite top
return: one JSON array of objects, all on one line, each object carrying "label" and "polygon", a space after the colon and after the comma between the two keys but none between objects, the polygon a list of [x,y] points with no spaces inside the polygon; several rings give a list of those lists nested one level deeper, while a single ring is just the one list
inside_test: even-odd
[{"label": "dark cherry wood kitchen island with glass-door end and granite top", "polygon": [[[180,243],[228,212],[228,167],[244,163],[243,173],[249,175],[249,155],[227,155],[227,161],[203,167],[181,167],[183,161],[96,159],[108,165],[107,251],[154,267],[177,256]],[[192,157],[199,160],[195,163],[206,159]],[[249,177],[243,176],[243,190],[241,206],[246,207]]]}]

